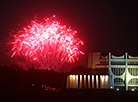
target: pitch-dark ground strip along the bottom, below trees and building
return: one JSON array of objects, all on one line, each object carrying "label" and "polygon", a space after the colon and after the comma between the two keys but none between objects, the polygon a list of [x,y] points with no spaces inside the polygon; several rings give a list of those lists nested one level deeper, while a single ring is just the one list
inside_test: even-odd
[{"label": "pitch-dark ground strip along the bottom, below trees and building", "polygon": [[137,99],[138,92],[98,90],[98,89],[63,89],[58,92],[41,90],[3,90],[0,100],[3,102],[121,102]]}]

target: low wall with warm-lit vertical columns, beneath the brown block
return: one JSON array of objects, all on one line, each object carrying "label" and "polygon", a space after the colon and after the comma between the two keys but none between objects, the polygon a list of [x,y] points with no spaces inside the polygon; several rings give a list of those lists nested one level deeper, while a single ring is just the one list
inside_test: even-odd
[{"label": "low wall with warm-lit vertical columns, beneath the brown block", "polygon": [[68,75],[66,88],[109,89],[109,75]]}]

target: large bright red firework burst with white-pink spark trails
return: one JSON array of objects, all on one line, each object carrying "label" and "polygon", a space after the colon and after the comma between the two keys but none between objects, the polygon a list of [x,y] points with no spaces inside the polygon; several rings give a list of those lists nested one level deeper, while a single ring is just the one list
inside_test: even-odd
[{"label": "large bright red firework burst with white-pink spark trails", "polygon": [[54,20],[55,15],[44,22],[32,21],[24,27],[11,41],[11,57],[26,67],[27,63],[37,64],[39,68],[58,71],[65,61],[75,62],[79,54],[79,45],[83,41],[75,38],[76,31]]}]

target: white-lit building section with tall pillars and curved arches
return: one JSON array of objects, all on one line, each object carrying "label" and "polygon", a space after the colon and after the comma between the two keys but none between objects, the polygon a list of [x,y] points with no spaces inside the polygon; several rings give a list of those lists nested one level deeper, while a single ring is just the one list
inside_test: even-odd
[{"label": "white-lit building section with tall pillars and curved arches", "polygon": [[109,53],[109,75],[112,77],[112,87],[138,87],[138,57],[128,55],[114,56]]}]

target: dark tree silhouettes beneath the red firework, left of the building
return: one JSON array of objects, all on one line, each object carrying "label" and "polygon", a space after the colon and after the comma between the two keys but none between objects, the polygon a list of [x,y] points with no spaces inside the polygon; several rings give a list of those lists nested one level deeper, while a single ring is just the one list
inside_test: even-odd
[{"label": "dark tree silhouettes beneath the red firework, left of the building", "polygon": [[[66,73],[54,70],[28,69],[19,65],[0,67],[0,88],[4,90],[41,89],[42,85],[55,88],[66,88]],[[32,86],[34,84],[34,86]]]}]

